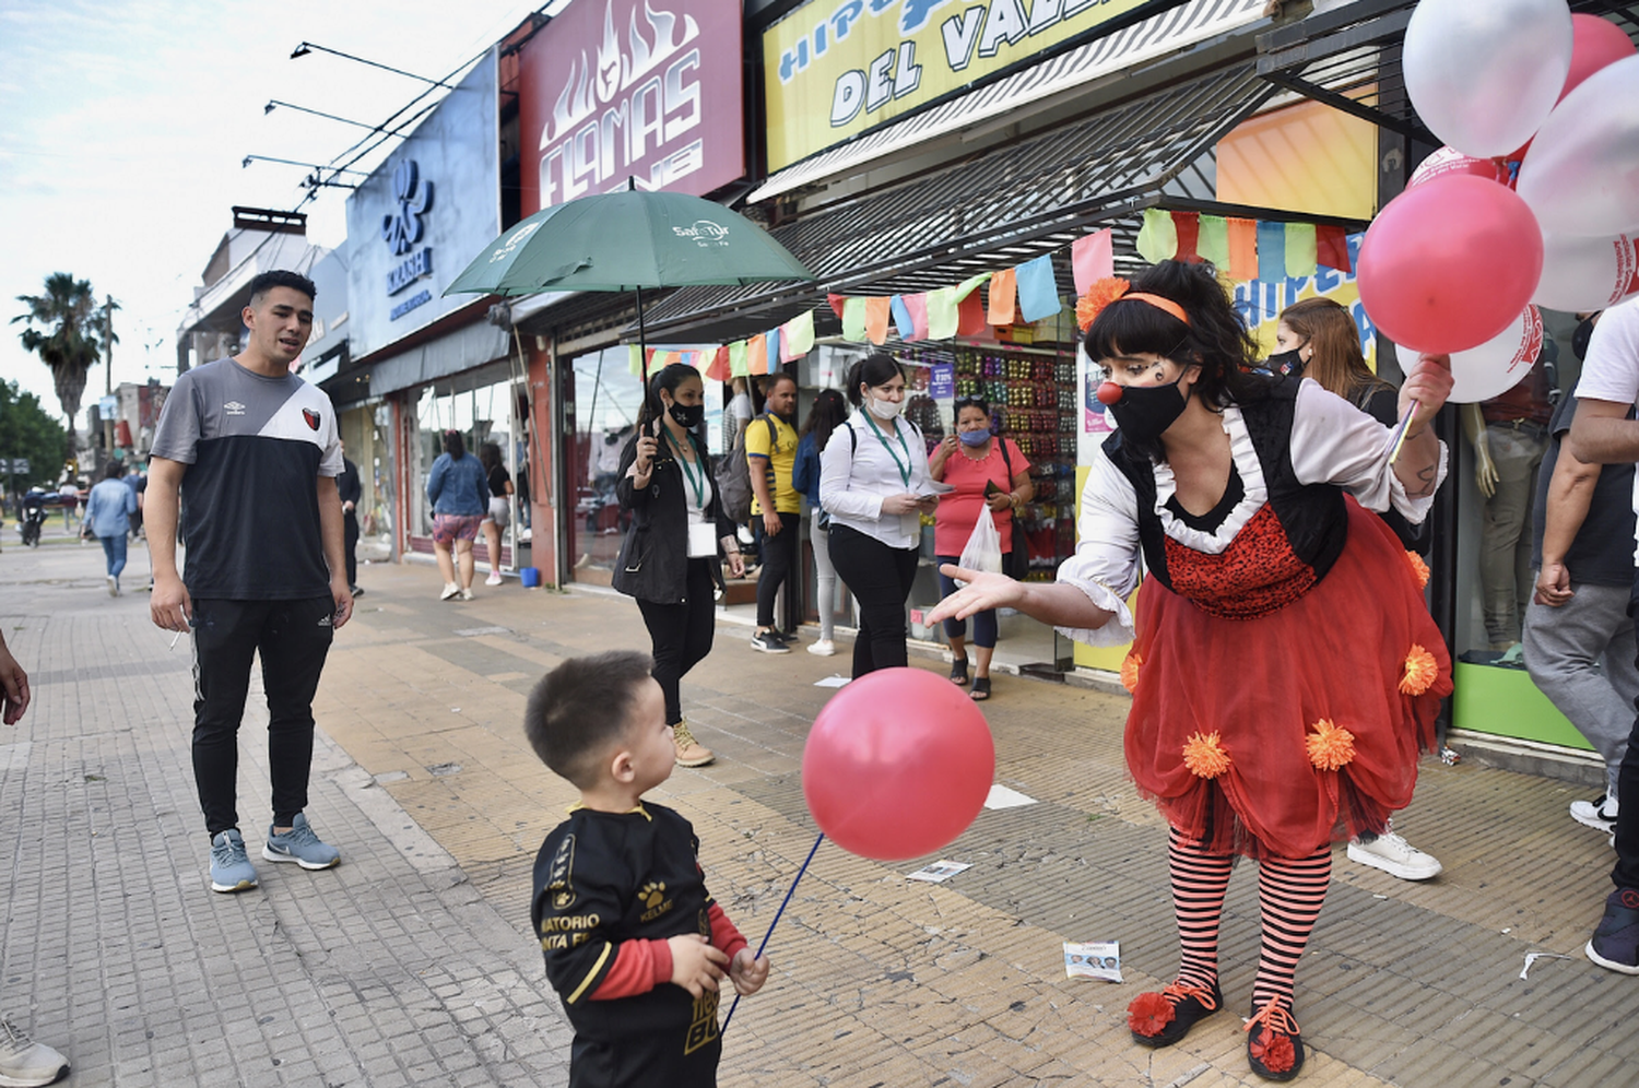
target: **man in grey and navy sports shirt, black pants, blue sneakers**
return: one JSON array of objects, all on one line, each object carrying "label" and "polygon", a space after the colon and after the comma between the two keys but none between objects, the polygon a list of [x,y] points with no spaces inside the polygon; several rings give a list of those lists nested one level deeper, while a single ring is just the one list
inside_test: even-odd
[{"label": "man in grey and navy sports shirt, black pants, blue sneakers", "polygon": [[[313,762],[313,693],[336,628],[352,616],[336,477],[336,411],[290,374],[313,331],[313,282],[287,270],[251,280],[244,351],[177,379],[154,429],[146,508],[154,564],[149,611],[193,631],[193,780],[210,834],[210,886],[256,886],[239,834],[239,724],[251,660],[267,691],[270,862],[329,868],[341,852],[303,809]],[[177,570],[177,528],[188,542]]]}]

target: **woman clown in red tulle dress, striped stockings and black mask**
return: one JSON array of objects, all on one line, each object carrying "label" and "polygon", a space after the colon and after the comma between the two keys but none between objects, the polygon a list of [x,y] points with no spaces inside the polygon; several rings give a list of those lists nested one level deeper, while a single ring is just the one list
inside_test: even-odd
[{"label": "woman clown in red tulle dress, striped stockings and black mask", "polygon": [[[1077,305],[1119,428],[1090,465],[1075,555],[1054,583],[967,582],[929,616],[1016,608],[1090,646],[1133,642],[1128,768],[1169,831],[1182,963],[1128,1009],[1165,1047],[1223,1008],[1218,926],[1236,855],[1259,864],[1262,957],[1246,1024],[1267,1080],[1303,1067],[1293,973],[1331,883],[1331,844],[1383,834],[1449,695],[1451,659],[1382,518],[1421,523],[1446,475],[1431,423],[1449,360],[1423,357],[1392,431],[1257,349],[1205,265],[1164,261]],[[1144,578],[1134,613],[1126,600]],[[1336,662],[1349,662],[1337,669]]]}]

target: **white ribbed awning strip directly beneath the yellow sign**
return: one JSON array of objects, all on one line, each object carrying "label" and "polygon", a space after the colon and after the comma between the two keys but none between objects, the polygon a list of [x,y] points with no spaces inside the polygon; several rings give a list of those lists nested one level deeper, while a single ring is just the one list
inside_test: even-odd
[{"label": "white ribbed awning strip directly beneath the yellow sign", "polygon": [[1264,7],[1264,0],[1192,0],[980,87],[954,102],[788,165],[769,177],[747,197],[747,202],[759,203],[805,185],[857,174],[880,159],[929,139],[997,118],[1016,116],[1019,110],[1082,88],[1095,79],[1133,70],[1255,23],[1262,18]]}]

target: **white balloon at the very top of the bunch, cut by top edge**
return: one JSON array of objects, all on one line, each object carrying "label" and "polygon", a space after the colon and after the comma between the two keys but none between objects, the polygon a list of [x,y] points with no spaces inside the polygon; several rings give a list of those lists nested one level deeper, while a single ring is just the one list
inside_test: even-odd
[{"label": "white balloon at the very top of the bunch, cut by top edge", "polygon": [[1429,129],[1478,159],[1521,147],[1570,72],[1565,0],[1421,0],[1400,67]]}]

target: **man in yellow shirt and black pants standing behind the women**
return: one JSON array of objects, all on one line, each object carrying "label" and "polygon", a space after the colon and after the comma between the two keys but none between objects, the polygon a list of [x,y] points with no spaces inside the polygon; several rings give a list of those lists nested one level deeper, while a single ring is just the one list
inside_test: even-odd
[{"label": "man in yellow shirt and black pants standing behind the women", "polygon": [[762,390],[762,419],[746,424],[746,464],[751,470],[751,528],[762,551],[762,570],[757,572],[757,631],[751,636],[751,649],[764,654],[790,654],[792,634],[782,634],[774,626],[774,598],[780,585],[797,592],[797,528],[803,519],[803,496],[792,485],[792,469],[797,465],[797,379],[788,374],[770,374]]}]

